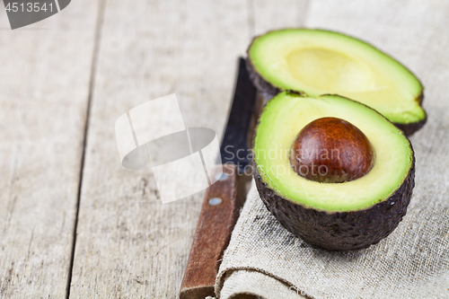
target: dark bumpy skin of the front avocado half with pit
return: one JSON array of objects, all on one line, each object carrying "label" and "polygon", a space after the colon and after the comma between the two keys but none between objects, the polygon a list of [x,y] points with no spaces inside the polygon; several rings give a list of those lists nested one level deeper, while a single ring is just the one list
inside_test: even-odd
[{"label": "dark bumpy skin of the front avocado half with pit", "polygon": [[329,251],[364,249],[388,236],[407,213],[415,187],[413,156],[409,175],[390,198],[364,210],[328,213],[277,195],[262,180],[254,161],[253,166],[260,198],[279,223],[304,242]]}]

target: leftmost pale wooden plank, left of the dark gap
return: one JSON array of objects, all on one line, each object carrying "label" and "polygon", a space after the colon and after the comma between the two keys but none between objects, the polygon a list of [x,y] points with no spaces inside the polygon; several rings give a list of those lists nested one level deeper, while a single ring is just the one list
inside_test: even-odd
[{"label": "leftmost pale wooden plank, left of the dark gap", "polygon": [[96,15],[11,31],[0,9],[0,298],[66,296]]}]

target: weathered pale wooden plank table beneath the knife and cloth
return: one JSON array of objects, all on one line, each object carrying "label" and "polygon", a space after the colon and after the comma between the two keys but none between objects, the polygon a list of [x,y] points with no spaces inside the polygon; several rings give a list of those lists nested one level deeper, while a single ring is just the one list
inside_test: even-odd
[{"label": "weathered pale wooden plank table beneath the knife and cloth", "polygon": [[306,1],[74,0],[11,31],[0,9],[0,298],[175,298],[202,194],[163,205],[114,123],[175,92],[221,138],[251,37]]}]

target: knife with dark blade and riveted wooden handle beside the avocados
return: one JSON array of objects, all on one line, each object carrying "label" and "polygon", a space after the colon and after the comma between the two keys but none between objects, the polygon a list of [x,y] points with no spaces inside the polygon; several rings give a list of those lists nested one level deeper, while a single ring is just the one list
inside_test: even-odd
[{"label": "knife with dark blade and riveted wooden handle beside the avocados", "polygon": [[180,286],[180,299],[215,296],[216,275],[251,182],[250,151],[261,99],[251,83],[245,59],[239,58],[233,104],[220,146],[223,174],[206,190],[187,268]]}]

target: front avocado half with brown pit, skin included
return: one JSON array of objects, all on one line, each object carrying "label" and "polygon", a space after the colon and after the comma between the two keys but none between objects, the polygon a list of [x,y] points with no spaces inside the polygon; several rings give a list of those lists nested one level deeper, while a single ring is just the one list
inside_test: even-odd
[{"label": "front avocado half with brown pit, skin included", "polygon": [[[327,119],[339,124],[312,128]],[[342,182],[329,175],[331,180],[313,180],[304,175],[304,167],[299,173],[301,168],[297,171],[292,164],[301,136],[305,152],[307,146],[311,149],[306,157],[347,167],[343,175],[357,174],[361,168],[351,170],[352,165],[364,163],[348,150],[353,145],[357,149],[357,138],[369,145],[365,149],[371,160],[365,173]],[[313,148],[320,142],[330,146]],[[253,163],[260,198],[280,224],[304,242],[331,251],[363,249],[392,233],[407,212],[415,185],[414,152],[403,132],[377,111],[337,95],[312,98],[280,92],[269,100],[256,128]],[[325,175],[327,171],[315,166],[309,174]]]}]

